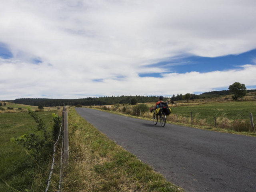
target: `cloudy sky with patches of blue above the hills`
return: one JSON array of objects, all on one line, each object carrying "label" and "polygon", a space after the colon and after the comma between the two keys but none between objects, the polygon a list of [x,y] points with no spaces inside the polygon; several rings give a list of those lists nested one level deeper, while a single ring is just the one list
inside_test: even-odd
[{"label": "cloudy sky with patches of blue above the hills", "polygon": [[0,100],[256,88],[255,0],[0,0]]}]

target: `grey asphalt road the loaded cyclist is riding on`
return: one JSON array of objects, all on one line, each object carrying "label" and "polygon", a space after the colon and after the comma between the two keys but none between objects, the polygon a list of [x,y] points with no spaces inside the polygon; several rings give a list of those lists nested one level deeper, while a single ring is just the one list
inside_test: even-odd
[{"label": "grey asphalt road the loaded cyclist is riding on", "polygon": [[187,192],[256,192],[256,137],[77,112],[118,145]]}]

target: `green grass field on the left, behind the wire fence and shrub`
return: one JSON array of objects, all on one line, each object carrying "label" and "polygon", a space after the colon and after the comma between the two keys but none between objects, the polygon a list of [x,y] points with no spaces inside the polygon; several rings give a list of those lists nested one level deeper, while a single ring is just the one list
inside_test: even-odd
[{"label": "green grass field on the left, behind the wire fence and shrub", "polygon": [[[52,126],[52,111],[39,115],[48,127]],[[40,170],[22,146],[10,142],[10,138],[34,132],[37,124],[27,112],[0,113],[0,191],[29,190],[35,171]],[[48,164],[48,163],[47,163]],[[30,191],[30,190],[29,190]]]}]

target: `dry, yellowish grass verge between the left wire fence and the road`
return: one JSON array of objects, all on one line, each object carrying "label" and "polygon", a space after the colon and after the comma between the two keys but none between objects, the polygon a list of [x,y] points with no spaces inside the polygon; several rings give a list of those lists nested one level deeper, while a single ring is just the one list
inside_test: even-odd
[{"label": "dry, yellowish grass verge between the left wire fence and the road", "polygon": [[184,191],[108,139],[86,122],[74,108],[70,108],[68,121],[70,167],[64,177],[64,191]]}]

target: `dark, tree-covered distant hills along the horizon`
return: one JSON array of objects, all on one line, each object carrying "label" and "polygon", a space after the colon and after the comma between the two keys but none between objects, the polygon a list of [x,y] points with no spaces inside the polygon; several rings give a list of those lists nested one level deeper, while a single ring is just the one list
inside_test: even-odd
[{"label": "dark, tree-covered distant hills along the horizon", "polygon": [[[256,89],[247,90],[247,93],[256,92]],[[221,91],[210,91],[204,92],[202,94],[191,94],[190,100],[194,99],[204,99],[204,98],[214,98],[220,97],[224,95],[230,95],[229,90],[221,90]],[[25,105],[32,105],[32,106],[39,106],[42,105],[44,107],[50,106],[63,106],[65,105],[72,105],[76,106],[77,104],[84,105],[84,106],[91,106],[91,105],[113,105],[113,104],[129,104],[131,99],[135,97],[138,103],[149,103],[149,102],[156,102],[158,100],[158,96],[108,96],[108,97],[99,97],[99,98],[82,98],[82,99],[44,99],[44,98],[20,98],[15,100],[6,100],[5,102],[12,102],[16,104],[25,104]],[[164,100],[168,98],[165,97]],[[182,94],[173,95],[171,100],[178,101],[183,100]],[[4,101],[3,101],[4,102]]]}]

